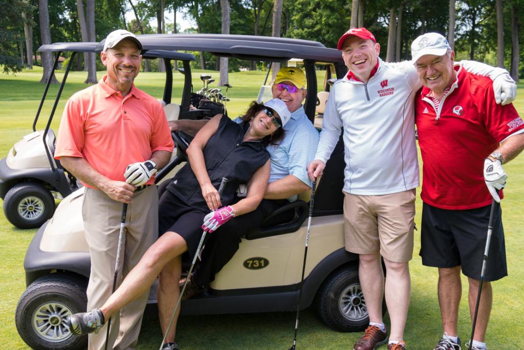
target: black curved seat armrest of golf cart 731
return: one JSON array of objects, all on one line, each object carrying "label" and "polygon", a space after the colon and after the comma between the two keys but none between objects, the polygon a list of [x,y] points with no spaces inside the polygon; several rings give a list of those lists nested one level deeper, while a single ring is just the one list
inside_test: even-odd
[{"label": "black curved seat armrest of golf cart 731", "polygon": [[[252,240],[296,232],[308,217],[308,209],[309,204],[300,199],[285,204],[266,218],[258,230],[248,232],[246,239]],[[277,224],[277,222],[283,223]]]}]

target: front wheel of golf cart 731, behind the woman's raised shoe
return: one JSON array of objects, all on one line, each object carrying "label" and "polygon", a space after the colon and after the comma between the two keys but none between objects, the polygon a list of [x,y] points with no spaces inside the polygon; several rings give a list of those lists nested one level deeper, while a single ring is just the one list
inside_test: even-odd
[{"label": "front wheel of golf cart 731, behind the woman's raised shoe", "polygon": [[18,334],[29,347],[36,350],[87,347],[87,336],[74,336],[63,325],[64,316],[85,312],[86,282],[74,274],[53,273],[29,285],[20,296],[15,314]]}]

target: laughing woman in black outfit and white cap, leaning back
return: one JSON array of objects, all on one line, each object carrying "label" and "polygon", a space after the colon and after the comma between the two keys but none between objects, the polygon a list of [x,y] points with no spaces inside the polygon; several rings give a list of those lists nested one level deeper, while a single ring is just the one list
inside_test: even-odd
[{"label": "laughing woman in black outfit and white cap, leaning back", "polygon": [[[220,226],[233,216],[256,209],[269,179],[265,146],[282,138],[282,126],[289,119],[286,104],[273,99],[265,104],[253,102],[242,123],[222,115],[206,123],[188,147],[188,164],[160,197],[159,230],[165,233],[100,309],[69,316],[71,332],[81,335],[100,330],[114,312],[145,293],[159,274],[158,309],[165,332],[180,293],[182,254],[188,251],[192,258],[196,253],[202,229],[210,228],[209,222],[202,225],[206,215]],[[223,177],[228,182],[219,196],[217,188]],[[233,204],[236,188],[242,183],[247,183],[247,196]],[[222,216],[215,215],[219,212]],[[171,328],[168,342],[174,341],[175,329]],[[171,344],[170,348],[178,348]]]}]

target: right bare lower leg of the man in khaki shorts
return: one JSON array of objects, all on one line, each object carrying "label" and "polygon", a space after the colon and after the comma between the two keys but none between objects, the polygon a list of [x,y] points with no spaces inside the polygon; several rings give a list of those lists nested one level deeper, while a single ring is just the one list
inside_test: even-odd
[{"label": "right bare lower leg of the man in khaki shorts", "polygon": [[[411,278],[408,262],[393,262],[384,259],[386,264],[386,305],[391,320],[390,341],[401,341],[408,318]],[[380,300],[381,302],[381,300]]]}]

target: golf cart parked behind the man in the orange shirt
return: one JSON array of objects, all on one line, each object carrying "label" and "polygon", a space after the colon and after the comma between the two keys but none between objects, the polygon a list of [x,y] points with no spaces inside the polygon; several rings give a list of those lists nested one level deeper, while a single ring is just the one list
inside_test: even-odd
[{"label": "golf cart parked behind the man in the orange shirt", "polygon": [[[25,135],[18,141],[6,158],[0,161],[0,198],[4,199],[4,214],[6,218],[18,228],[38,228],[53,216],[54,199],[62,199],[81,186],[77,179],[64,169],[59,161],[53,158],[56,136],[50,129],[54,112],[56,112],[65,81],[68,78],[75,55],[81,52],[95,52],[98,43],[56,43],[42,45],[38,50],[56,53],[50,77],[57,69],[58,60],[63,51],[71,52],[69,63],[65,69],[64,77],[51,113],[47,119],[44,130],[37,131],[40,112],[47,97],[51,78],[48,79],[43,92],[37,114],[32,124],[33,132]],[[182,60],[184,66],[189,67],[189,61],[194,60],[191,54],[181,54],[172,51],[162,52],[151,50],[144,58],[164,58]],[[168,119],[176,119],[183,107],[171,103],[172,70],[166,69],[166,86],[162,104],[165,105]],[[187,95],[189,96],[189,92]],[[189,98],[187,101],[189,109]]]}]

